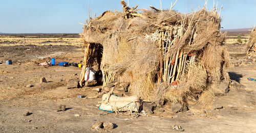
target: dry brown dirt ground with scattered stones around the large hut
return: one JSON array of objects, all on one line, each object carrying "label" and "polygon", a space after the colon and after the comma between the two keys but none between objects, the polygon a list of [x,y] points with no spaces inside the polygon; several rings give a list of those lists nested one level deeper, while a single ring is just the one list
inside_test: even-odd
[{"label": "dry brown dirt ground with scattered stones around the large hut", "polygon": [[[247,61],[244,45],[226,46],[232,63],[230,78],[240,84],[230,86],[226,95],[215,98],[213,105],[223,109],[189,105],[189,111],[174,114],[165,105],[165,112],[156,110],[138,118],[100,111],[96,104],[101,99],[90,98],[97,93],[92,88],[67,89],[69,79],[79,79],[81,68],[38,66],[51,58],[79,63],[83,59],[81,47],[0,46],[0,132],[99,132],[92,129],[95,121],[114,123],[115,128],[108,132],[179,132],[170,128],[174,124],[184,132],[256,132],[256,82],[247,80],[256,78],[256,62]],[[13,65],[5,65],[8,59]],[[46,77],[48,82],[40,84],[40,77]],[[77,98],[78,95],[86,98]],[[61,104],[67,110],[56,112]],[[24,116],[27,111],[30,115]]]}]

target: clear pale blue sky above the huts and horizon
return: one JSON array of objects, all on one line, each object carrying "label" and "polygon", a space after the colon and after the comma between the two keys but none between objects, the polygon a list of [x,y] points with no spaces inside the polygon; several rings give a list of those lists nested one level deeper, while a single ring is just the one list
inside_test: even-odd
[{"label": "clear pale blue sky above the huts and horizon", "polygon": [[[127,0],[125,0],[127,2]],[[160,8],[160,0],[129,0],[130,7]],[[169,9],[175,0],[162,0],[163,9]],[[203,6],[204,0],[178,0],[173,8],[182,13]],[[214,0],[208,0],[212,9]],[[215,0],[217,3],[217,0]],[[251,28],[256,24],[256,0],[219,0],[223,6],[221,17],[224,29]],[[106,10],[121,11],[120,0],[89,0],[92,15]],[[0,0],[0,32],[3,33],[80,33],[88,19],[88,0]]]}]

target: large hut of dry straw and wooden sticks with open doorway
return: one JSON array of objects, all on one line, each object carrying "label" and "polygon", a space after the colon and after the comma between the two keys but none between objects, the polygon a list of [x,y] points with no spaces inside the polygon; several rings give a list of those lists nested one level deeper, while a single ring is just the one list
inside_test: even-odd
[{"label": "large hut of dry straw and wooden sticks with open doorway", "polygon": [[182,14],[121,4],[123,12],[105,11],[84,24],[80,83],[96,61],[103,86],[129,82],[129,91],[144,100],[177,103],[229,79],[217,7]]}]

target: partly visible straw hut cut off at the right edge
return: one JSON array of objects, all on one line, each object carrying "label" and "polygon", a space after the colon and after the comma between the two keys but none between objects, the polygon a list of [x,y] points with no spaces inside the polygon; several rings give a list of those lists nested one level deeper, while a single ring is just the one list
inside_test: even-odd
[{"label": "partly visible straw hut cut off at the right edge", "polygon": [[256,29],[252,28],[251,34],[249,36],[249,41],[246,43],[247,57],[256,57]]}]

